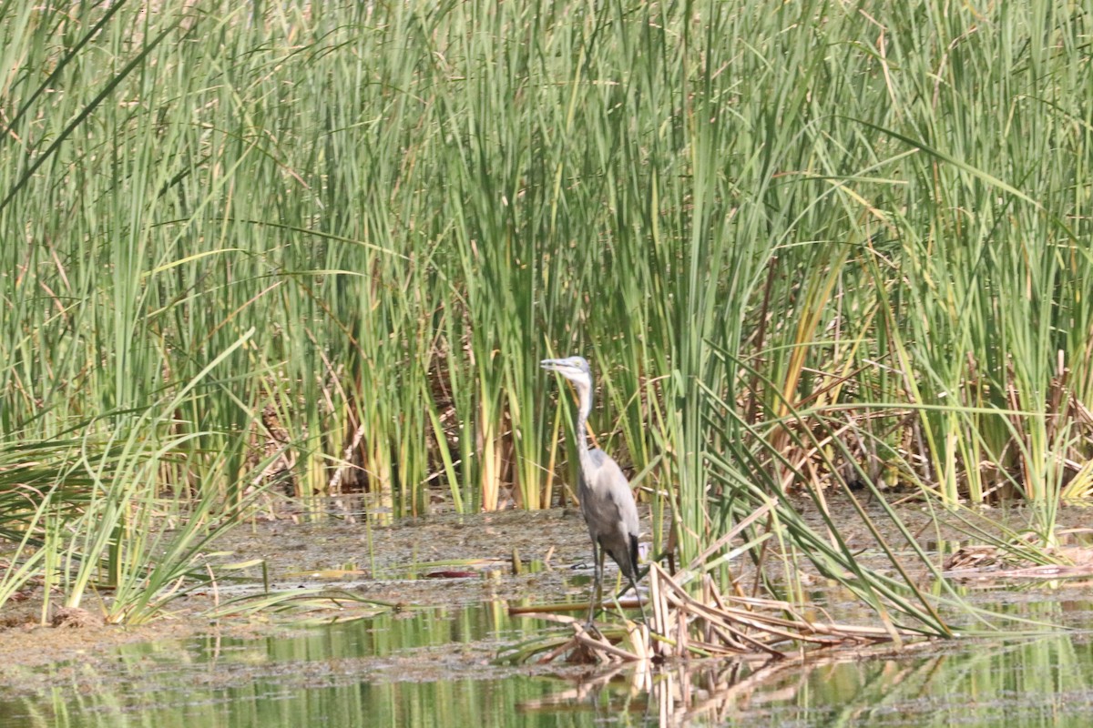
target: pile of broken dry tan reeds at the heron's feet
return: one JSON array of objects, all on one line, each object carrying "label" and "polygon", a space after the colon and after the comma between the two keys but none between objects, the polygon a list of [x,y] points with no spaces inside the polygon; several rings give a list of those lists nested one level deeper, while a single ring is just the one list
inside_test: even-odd
[{"label": "pile of broken dry tan reeds at the heron's feet", "polygon": [[[698,596],[686,584],[701,580]],[[667,659],[761,657],[788,659],[816,648],[878,644],[903,646],[905,640],[924,634],[886,626],[858,626],[815,621],[779,599],[724,594],[708,574],[684,572],[674,577],[659,564],[648,575],[649,623],[625,620],[622,629],[588,630],[577,619],[553,613],[536,617],[573,629],[567,640],[527,645],[517,659],[540,664],[663,661]],[[522,610],[521,610],[522,612]]]}]

